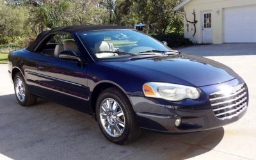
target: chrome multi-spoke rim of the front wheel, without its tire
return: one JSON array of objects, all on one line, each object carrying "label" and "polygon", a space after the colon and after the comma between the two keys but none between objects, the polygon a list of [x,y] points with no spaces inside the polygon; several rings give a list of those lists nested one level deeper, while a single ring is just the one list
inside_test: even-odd
[{"label": "chrome multi-spoke rim of the front wheel, without its tire", "polygon": [[125,129],[125,117],[121,106],[114,99],[104,99],[100,104],[100,122],[104,130],[114,138]]}]

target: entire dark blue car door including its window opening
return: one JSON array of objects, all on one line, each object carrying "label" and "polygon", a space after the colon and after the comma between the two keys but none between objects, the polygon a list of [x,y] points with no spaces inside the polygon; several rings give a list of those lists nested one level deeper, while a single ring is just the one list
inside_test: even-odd
[{"label": "entire dark blue car door including its window opening", "polygon": [[86,63],[60,58],[63,50],[72,50],[81,55],[81,49],[68,33],[50,35],[38,47],[34,60],[31,60],[33,67],[26,71],[31,92],[83,111],[90,111]]}]

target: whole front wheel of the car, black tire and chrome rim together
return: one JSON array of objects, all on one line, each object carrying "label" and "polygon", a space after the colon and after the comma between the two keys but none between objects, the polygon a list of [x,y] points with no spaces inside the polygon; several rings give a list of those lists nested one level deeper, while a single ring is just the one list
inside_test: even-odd
[{"label": "whole front wheel of the car, black tire and chrome rim together", "polygon": [[[108,102],[112,110],[108,108]],[[96,118],[104,136],[113,143],[126,144],[141,135],[131,103],[126,95],[116,87],[107,88],[100,93],[96,102]]]}]

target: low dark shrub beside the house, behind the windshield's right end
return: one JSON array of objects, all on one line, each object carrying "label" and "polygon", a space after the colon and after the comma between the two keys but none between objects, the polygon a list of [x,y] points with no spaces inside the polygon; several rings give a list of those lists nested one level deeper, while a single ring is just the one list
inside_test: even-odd
[{"label": "low dark shrub beside the house, behind the windshield's right end", "polygon": [[169,47],[177,48],[193,45],[193,42],[191,42],[188,38],[184,38],[184,35],[180,35],[179,33],[166,33],[152,36],[159,41],[167,42]]}]

